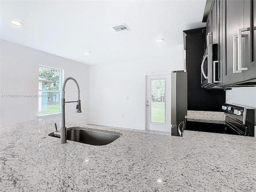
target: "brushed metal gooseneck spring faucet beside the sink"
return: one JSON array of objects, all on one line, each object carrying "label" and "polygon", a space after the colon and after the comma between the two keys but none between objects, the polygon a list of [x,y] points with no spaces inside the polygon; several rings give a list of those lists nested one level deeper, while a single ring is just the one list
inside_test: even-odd
[{"label": "brushed metal gooseneck spring faucet beside the sink", "polygon": [[[78,100],[77,101],[67,101],[65,102],[65,88],[66,88],[66,83],[68,80],[74,80],[74,82],[77,85],[77,90],[78,90]],[[60,137],[60,143],[64,144],[67,142],[67,128],[65,126],[65,103],[72,103],[72,102],[77,102],[76,104],[76,113],[81,113],[81,104],[80,104],[80,88],[79,84],[76,81],[75,78],[73,77],[68,77],[64,80],[63,86],[62,86],[62,98],[61,98],[61,128],[60,131],[57,130],[57,126],[55,124],[55,132],[54,135]]]}]

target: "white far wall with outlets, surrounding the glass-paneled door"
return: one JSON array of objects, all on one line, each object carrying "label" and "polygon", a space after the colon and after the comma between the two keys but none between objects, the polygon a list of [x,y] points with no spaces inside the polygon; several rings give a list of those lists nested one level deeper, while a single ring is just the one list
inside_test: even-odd
[{"label": "white far wall with outlets, surrounding the glass-paneled door", "polygon": [[144,129],[145,75],[182,70],[182,45],[170,48],[165,55],[90,66],[89,122]]}]

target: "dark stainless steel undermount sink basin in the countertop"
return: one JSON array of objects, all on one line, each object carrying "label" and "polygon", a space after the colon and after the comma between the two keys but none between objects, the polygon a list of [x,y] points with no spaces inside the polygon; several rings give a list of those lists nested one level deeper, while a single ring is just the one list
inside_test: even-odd
[{"label": "dark stainless steel undermount sink basin in the countertop", "polygon": [[[49,134],[49,136],[54,136],[53,134]],[[107,145],[118,139],[120,135],[98,132],[92,130],[84,130],[84,129],[71,129],[67,130],[67,140],[76,141],[80,143],[90,144],[90,145]],[[59,138],[59,137],[57,137]]]}]

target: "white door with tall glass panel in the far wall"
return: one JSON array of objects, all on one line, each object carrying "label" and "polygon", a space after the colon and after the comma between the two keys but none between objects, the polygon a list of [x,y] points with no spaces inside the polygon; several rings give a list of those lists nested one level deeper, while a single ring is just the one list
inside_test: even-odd
[{"label": "white door with tall glass panel in the far wall", "polygon": [[146,130],[171,132],[171,75],[146,76]]}]

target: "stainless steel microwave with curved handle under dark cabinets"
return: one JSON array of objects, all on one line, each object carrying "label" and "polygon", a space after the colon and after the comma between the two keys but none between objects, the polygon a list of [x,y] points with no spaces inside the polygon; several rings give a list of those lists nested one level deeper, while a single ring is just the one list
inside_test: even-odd
[{"label": "stainless steel microwave with curved handle under dark cabinets", "polygon": [[219,79],[218,44],[209,44],[204,52],[201,63],[201,87],[215,87]]}]

